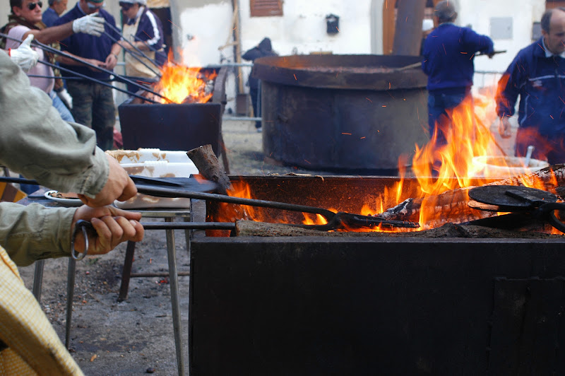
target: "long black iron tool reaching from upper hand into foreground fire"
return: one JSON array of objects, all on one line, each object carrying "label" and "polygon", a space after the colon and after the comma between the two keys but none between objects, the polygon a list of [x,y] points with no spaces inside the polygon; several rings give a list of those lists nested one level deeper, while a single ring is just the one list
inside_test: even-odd
[{"label": "long black iron tool reaching from upper hand into foreground fire", "polygon": [[[242,197],[226,196],[225,194],[213,194],[203,192],[191,192],[182,187],[175,187],[174,182],[183,178],[148,178],[132,176],[136,183],[138,193],[157,197],[183,197],[187,199],[201,199],[209,201],[225,202],[227,204],[238,204],[258,206],[263,208],[275,208],[286,211],[297,211],[301,213],[319,214],[328,221],[325,225],[302,225],[292,224],[296,227],[315,230],[336,230],[338,228],[374,228],[377,226],[396,228],[418,228],[420,225],[408,221],[387,221],[377,216],[362,216],[345,212],[334,213],[325,208],[288,204],[278,201],[266,201],[258,199],[244,199]],[[184,178],[187,179],[187,178]]]}]

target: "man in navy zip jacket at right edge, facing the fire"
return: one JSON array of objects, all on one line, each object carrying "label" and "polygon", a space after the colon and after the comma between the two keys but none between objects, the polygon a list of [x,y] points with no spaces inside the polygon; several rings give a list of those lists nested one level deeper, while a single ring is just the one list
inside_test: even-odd
[{"label": "man in navy zip jacket at right edge, facing the fire", "polygon": [[555,8],[542,16],[542,38],[522,49],[499,81],[496,112],[499,132],[511,136],[509,117],[518,106],[516,155],[529,145],[533,158],[565,163],[565,11]]}]

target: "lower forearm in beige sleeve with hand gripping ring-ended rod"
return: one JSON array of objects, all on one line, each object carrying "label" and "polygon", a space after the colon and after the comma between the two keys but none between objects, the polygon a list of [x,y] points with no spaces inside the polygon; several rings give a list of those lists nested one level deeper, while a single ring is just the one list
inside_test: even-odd
[{"label": "lower forearm in beige sleeve with hand gripping ring-ended rod", "polygon": [[[18,266],[40,259],[69,257],[71,236],[76,221],[90,221],[96,235],[89,237],[88,254],[105,254],[120,242],[143,239],[141,213],[122,211],[113,206],[103,208],[46,208],[40,204],[21,206],[0,204],[0,245]],[[75,247],[84,250],[82,233]]]}]

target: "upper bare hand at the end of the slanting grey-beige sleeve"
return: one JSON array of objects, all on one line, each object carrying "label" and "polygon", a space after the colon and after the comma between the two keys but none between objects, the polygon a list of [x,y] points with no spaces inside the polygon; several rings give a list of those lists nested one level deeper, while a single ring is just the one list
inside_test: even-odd
[{"label": "upper bare hand at the end of the slanting grey-beige sleeve", "polygon": [[106,155],[109,163],[108,180],[94,199],[79,194],[78,198],[93,208],[112,204],[114,200],[126,201],[137,194],[136,184],[115,158]]}]

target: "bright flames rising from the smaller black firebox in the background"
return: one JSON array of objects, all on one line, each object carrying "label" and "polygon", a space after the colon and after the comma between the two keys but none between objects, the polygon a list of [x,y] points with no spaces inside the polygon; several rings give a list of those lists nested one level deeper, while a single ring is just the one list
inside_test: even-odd
[{"label": "bright flames rising from the smaller black firebox in the background", "polygon": [[[213,95],[213,80],[216,73],[201,72],[194,68],[175,64],[171,56],[161,69],[162,77],[156,91],[174,103],[206,103]],[[162,103],[167,100],[160,99]]]}]

